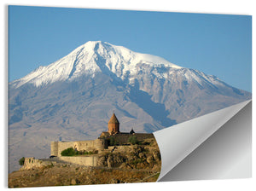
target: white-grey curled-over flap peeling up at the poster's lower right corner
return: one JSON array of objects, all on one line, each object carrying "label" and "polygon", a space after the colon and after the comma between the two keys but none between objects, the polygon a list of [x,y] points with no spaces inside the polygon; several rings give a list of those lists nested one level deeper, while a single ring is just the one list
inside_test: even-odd
[{"label": "white-grey curled-over flap peeling up at the poster's lower right corner", "polygon": [[161,171],[158,181],[243,107],[247,106],[250,101],[243,101],[196,119],[155,131],[154,137],[161,154]]}]

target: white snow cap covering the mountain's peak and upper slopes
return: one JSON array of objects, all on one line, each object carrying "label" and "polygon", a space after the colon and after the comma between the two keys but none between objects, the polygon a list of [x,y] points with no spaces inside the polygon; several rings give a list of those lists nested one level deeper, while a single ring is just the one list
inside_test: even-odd
[{"label": "white snow cap covering the mountain's peak and upper slopes", "polygon": [[[24,78],[15,80],[12,84],[20,87],[26,83],[35,86],[54,83],[55,81],[73,80],[84,74],[94,77],[96,72],[113,72],[118,78],[133,78],[141,64],[150,67],[169,67],[179,69],[169,61],[155,55],[140,54],[126,49],[122,46],[115,46],[101,41],[89,41],[74,49],[70,54],[55,61],[49,66],[38,67]],[[155,73],[155,71],[153,71]],[[160,75],[159,73],[155,73]],[[165,73],[162,78],[166,78]]]}]

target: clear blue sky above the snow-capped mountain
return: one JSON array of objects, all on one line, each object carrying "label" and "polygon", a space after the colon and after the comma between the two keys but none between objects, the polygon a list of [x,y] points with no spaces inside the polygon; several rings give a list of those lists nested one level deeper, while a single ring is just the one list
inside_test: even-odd
[{"label": "clear blue sky above the snow-capped mountain", "polygon": [[104,9],[9,7],[9,81],[90,40],[159,55],[252,91],[252,17]]}]

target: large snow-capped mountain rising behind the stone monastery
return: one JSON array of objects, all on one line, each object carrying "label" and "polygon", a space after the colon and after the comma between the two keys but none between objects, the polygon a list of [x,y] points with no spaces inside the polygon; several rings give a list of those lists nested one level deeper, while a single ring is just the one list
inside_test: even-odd
[{"label": "large snow-capped mountain rising behind the stone monastery", "polygon": [[9,83],[9,171],[51,141],[94,139],[115,111],[121,131],[153,132],[251,99],[219,78],[101,41]]}]

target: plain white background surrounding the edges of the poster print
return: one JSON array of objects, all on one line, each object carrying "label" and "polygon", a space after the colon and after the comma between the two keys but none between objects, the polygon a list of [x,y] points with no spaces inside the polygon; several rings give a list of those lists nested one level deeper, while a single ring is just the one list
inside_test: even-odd
[{"label": "plain white background surrounding the edges of the poster print", "polygon": [[[118,0],[2,0],[1,1],[1,124],[2,124],[2,151],[5,153],[5,157],[1,158],[2,173],[1,173],[1,187],[7,189],[7,78],[8,78],[8,56],[7,56],[7,5],[33,5],[33,6],[57,6],[57,7],[73,7],[73,8],[97,8],[97,9],[137,9],[137,10],[158,10],[158,11],[172,11],[172,12],[193,12],[193,13],[214,13],[214,14],[251,14],[255,13],[255,5],[253,0],[130,0],[130,1],[118,1]],[[253,26],[255,26],[253,20]],[[253,30],[254,33],[255,30]],[[253,38],[254,39],[254,38]],[[254,53],[253,49],[253,53]],[[253,54],[254,55],[254,54]],[[253,69],[254,70],[254,69]],[[253,134],[255,130],[253,131]],[[255,141],[253,140],[253,146]],[[253,154],[254,156],[254,154]],[[255,168],[253,168],[255,172]],[[253,173],[255,174],[255,173]],[[90,186],[73,186],[73,187],[52,187],[49,190],[253,190],[253,184],[255,184],[255,178],[240,179],[240,180],[224,180],[224,181],[190,181],[190,182],[157,182],[157,183],[134,183],[134,184],[121,184],[121,185],[90,185]],[[45,188],[21,188],[19,190],[45,190]]]}]

